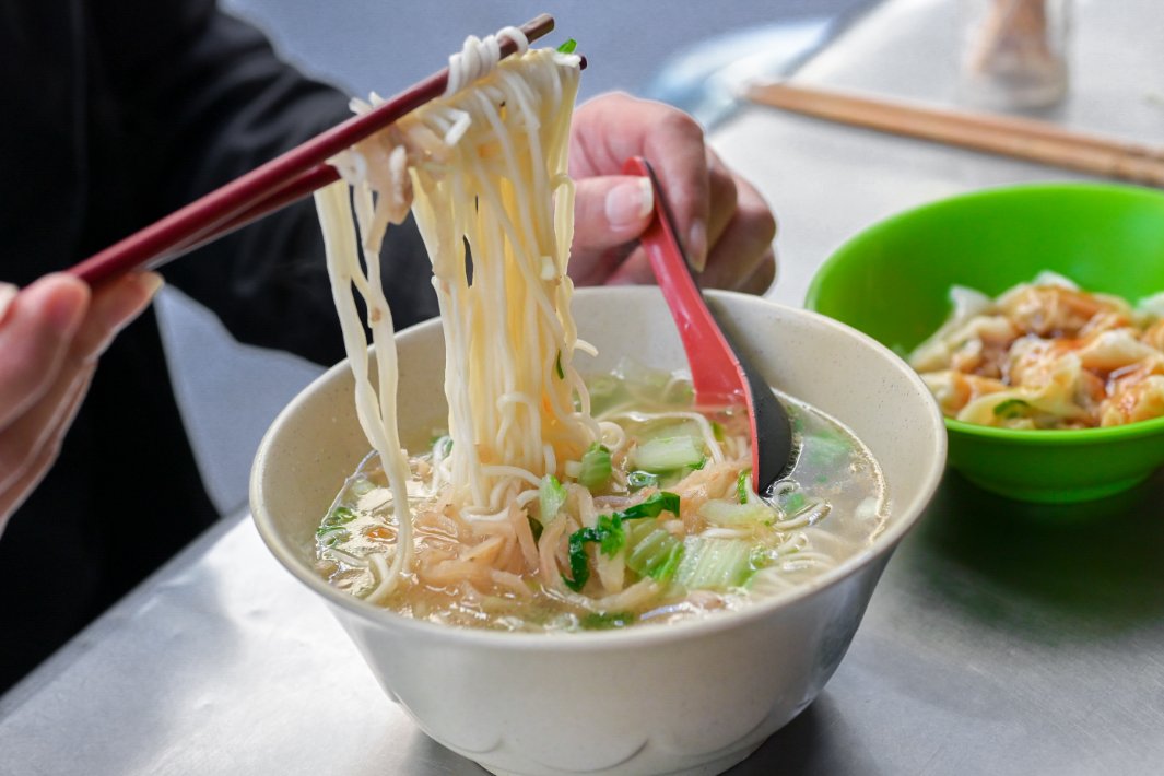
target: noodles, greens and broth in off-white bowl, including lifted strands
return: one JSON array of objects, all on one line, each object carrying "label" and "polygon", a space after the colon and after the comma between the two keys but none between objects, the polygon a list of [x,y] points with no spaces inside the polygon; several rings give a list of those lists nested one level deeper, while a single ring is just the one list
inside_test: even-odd
[{"label": "noodles, greens and broth in off-white bowl, including lifted strands", "polygon": [[[338,156],[343,180],[317,194],[375,449],[318,532],[321,570],[418,618],[577,629],[732,608],[753,578],[775,589],[829,568],[831,537],[809,532],[832,504],[852,505],[846,515],[875,504],[860,525],[830,518],[849,548],[883,517],[879,471],[851,434],[796,411],[804,451],[821,458],[804,475],[828,486],[789,482],[768,506],[744,485],[738,407],[694,407],[681,375],[630,369],[595,391],[575,368],[576,353],[594,353],[579,340],[566,273],[579,58],[530,51],[509,33],[519,56],[498,62],[495,38],[467,41],[446,95]],[[447,436],[411,458],[378,264],[384,230],[409,206],[432,261],[448,404]],[[849,471],[864,474],[831,482]]]}]

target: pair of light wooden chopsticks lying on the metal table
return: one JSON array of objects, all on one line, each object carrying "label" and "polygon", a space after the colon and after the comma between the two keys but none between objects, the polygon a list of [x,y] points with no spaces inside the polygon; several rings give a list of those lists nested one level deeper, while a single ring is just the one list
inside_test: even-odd
[{"label": "pair of light wooden chopsticks lying on the metal table", "polygon": [[856,127],[1164,186],[1164,148],[1034,119],[935,108],[787,81],[754,84],[746,97],[760,105]]}]

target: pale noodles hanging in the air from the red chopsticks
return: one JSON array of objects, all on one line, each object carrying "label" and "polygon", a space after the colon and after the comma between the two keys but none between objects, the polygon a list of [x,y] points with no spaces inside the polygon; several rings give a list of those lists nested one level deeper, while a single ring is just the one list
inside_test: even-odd
[{"label": "pale noodles hanging in the air from the red chopsticks", "polygon": [[[450,59],[449,93],[336,157],[345,181],[317,194],[357,413],[388,475],[399,526],[392,563],[369,598],[390,595],[412,555],[409,463],[396,430],[393,329],[378,271],[384,229],[403,220],[410,202],[433,264],[445,330],[454,444],[448,465],[436,471],[445,478],[438,484],[450,486],[452,503],[468,520],[495,515],[599,436],[573,365],[579,342],[566,275],[574,206],[567,151],[579,57],[526,51],[519,30],[503,33],[524,54],[498,63],[495,38],[467,41]],[[456,91],[484,70],[492,72]],[[354,291],[368,307],[378,393]],[[525,553],[537,562],[532,544]]]}]

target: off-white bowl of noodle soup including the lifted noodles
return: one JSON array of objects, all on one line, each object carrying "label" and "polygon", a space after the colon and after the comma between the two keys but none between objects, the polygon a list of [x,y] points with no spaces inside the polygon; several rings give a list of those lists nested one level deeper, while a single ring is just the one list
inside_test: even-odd
[{"label": "off-white bowl of noodle soup including the lifted noodles", "polygon": [[[348,359],[264,437],[256,526],[449,749],[497,774],[718,773],[836,670],[941,478],[941,415],[856,330],[711,294],[799,440],[771,503],[751,492],[746,413],[694,404],[659,290],[567,275],[579,58],[466,47],[496,69],[452,60],[443,98],[317,192]],[[441,314],[395,334],[376,257],[410,209]]]}]

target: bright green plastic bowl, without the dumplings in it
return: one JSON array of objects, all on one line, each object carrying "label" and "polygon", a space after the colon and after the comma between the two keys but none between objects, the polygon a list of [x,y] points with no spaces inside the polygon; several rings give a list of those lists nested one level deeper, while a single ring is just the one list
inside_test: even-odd
[{"label": "bright green plastic bowl, without the dumplings in it", "polygon": [[[996,296],[1042,270],[1130,301],[1164,290],[1164,193],[1043,184],[925,205],[842,245],[812,278],[805,305],[904,354],[945,320],[950,286]],[[950,465],[1028,501],[1100,498],[1164,465],[1164,418],[1081,430],[945,422]]]}]

